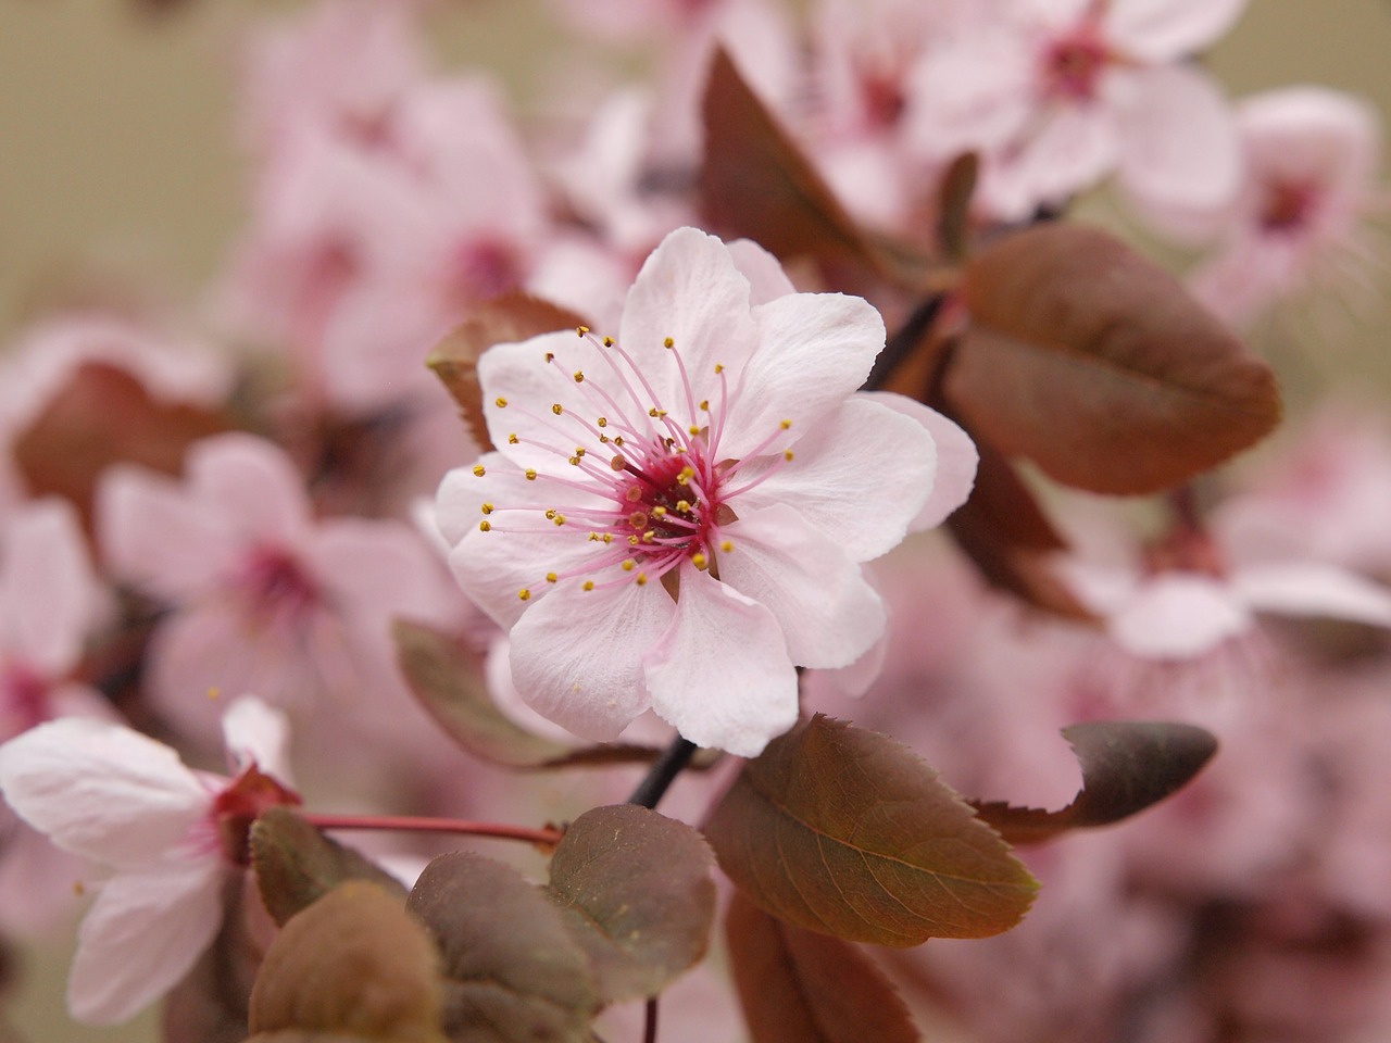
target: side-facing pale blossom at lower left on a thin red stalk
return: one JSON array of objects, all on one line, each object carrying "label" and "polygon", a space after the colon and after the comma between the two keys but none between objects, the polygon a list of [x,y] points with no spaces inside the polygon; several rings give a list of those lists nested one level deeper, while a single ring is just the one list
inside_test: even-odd
[{"label": "side-facing pale blossom at lower left on a thin red stalk", "polygon": [[65,718],[0,747],[0,790],[58,847],[113,871],[82,921],[68,979],[74,1017],[129,1018],[211,944],[227,876],[252,822],[298,804],[284,716],[252,697],[223,719],[235,777],[195,772],[122,725]]}]

